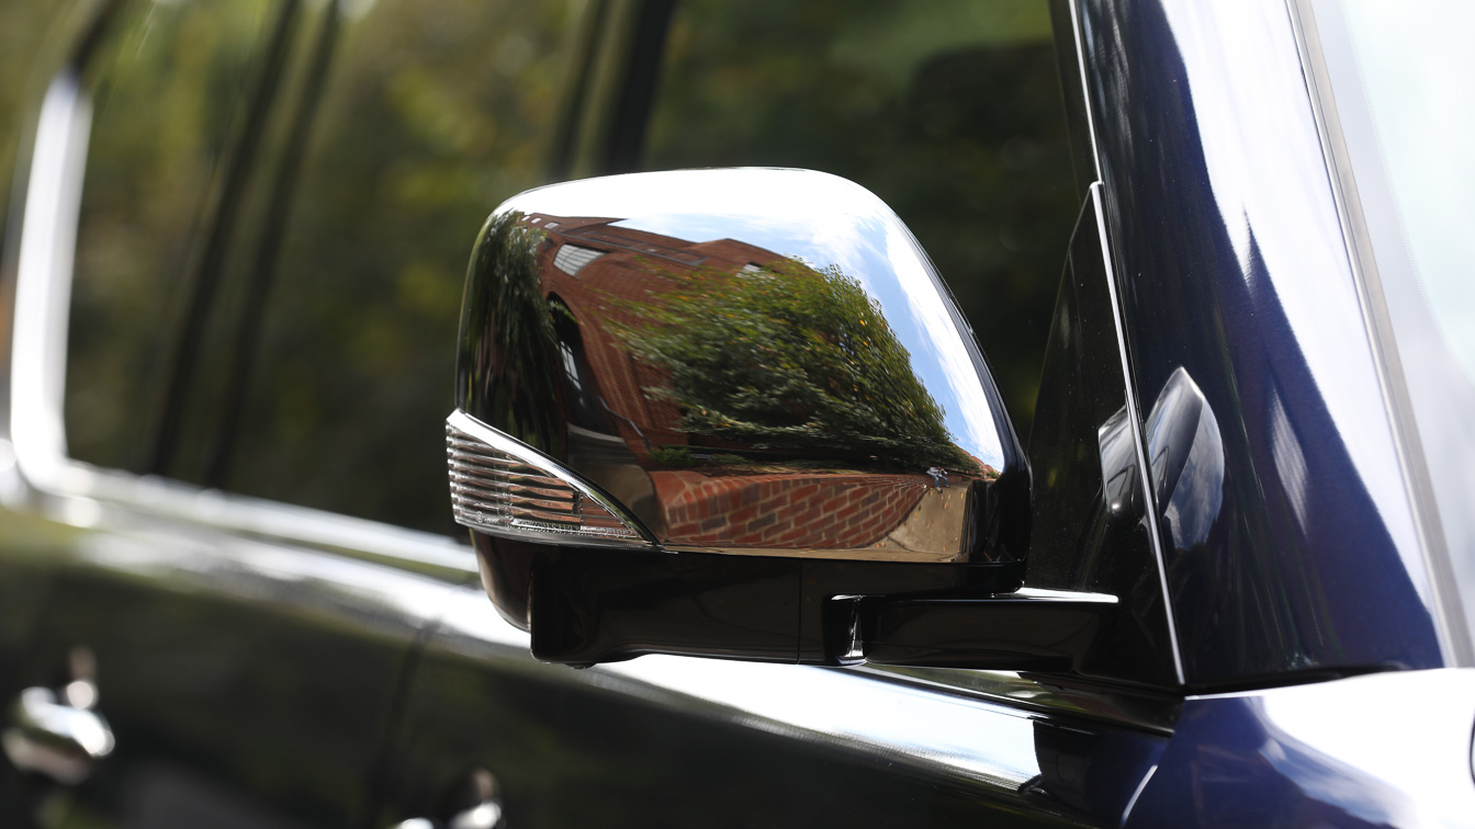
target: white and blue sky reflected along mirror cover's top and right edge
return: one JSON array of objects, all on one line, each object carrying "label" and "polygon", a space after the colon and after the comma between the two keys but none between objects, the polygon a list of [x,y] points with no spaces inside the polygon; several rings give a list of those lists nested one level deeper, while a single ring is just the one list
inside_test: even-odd
[{"label": "white and blue sky reflected along mirror cover's top and right edge", "polygon": [[[650,212],[630,204],[640,199],[620,199],[608,205],[618,209],[602,211],[597,208],[606,205],[597,198],[580,199],[577,211],[580,215],[634,215],[637,218],[618,224],[689,242],[736,239],[802,258],[817,268],[838,266],[881,305],[912,357],[912,370],[943,407],[944,425],[953,440],[984,463],[1000,468],[999,434],[978,369],[963,341],[971,335],[953,322],[943,292],[901,221],[869,192],[832,176],[811,174],[805,178],[804,193],[783,192],[776,196],[785,187],[792,189],[789,180],[776,180],[771,189],[752,186],[774,176],[773,171],[726,174],[735,181],[736,177],[746,178],[735,187],[742,192],[733,193],[736,198],[730,201],[727,193],[714,198],[711,187],[693,189],[695,193],[673,189],[676,192],[668,202],[649,205]],[[677,180],[684,176],[670,174]],[[768,198],[763,198],[766,195]],[[558,212],[546,198],[535,204],[540,212]],[[724,208],[730,212],[721,212]]]}]

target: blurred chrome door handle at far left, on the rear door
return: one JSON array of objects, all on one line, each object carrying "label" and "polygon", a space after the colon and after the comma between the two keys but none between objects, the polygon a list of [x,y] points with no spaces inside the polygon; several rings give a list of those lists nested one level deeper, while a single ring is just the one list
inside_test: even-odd
[{"label": "blurred chrome door handle at far left, on the rear door", "polygon": [[108,720],[93,711],[96,701],[97,687],[88,680],[69,683],[60,699],[49,687],[28,687],[10,707],[0,746],[16,769],[80,783],[114,748]]}]

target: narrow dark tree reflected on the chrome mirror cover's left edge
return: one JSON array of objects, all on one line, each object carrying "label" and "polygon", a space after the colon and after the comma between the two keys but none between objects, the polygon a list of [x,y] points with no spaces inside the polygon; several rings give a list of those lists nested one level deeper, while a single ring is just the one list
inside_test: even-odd
[{"label": "narrow dark tree reflected on the chrome mirror cover's left edge", "polygon": [[484,301],[468,302],[462,350],[490,378],[491,419],[525,443],[562,454],[558,425],[558,363],[553,308],[543,296],[537,263],[543,232],[509,211],[491,217],[472,251],[472,285]]}]

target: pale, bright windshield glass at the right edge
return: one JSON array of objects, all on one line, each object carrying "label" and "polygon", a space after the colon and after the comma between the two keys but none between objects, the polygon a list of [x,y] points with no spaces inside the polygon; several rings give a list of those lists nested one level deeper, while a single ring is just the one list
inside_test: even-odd
[{"label": "pale, bright windshield glass at the right edge", "polygon": [[1413,409],[1410,448],[1475,609],[1475,3],[1317,0],[1314,13],[1356,180],[1347,195],[1392,327],[1384,347]]}]

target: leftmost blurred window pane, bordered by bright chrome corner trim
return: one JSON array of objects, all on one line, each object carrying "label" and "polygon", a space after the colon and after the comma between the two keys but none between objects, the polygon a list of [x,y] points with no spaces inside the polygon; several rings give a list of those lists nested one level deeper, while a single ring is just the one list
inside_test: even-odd
[{"label": "leftmost blurred window pane, bordered by bright chrome corner trim", "polygon": [[184,274],[280,7],[128,3],[87,66],[93,127],[65,389],[74,457],[143,466]]}]

